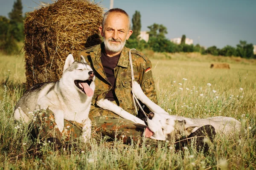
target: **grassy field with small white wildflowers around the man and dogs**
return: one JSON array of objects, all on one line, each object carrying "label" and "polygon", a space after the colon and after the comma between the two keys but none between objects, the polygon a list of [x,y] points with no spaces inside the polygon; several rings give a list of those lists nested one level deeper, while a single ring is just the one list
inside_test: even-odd
[{"label": "grassy field with small white wildflowers around the man and dogs", "polygon": [[[145,52],[146,53],[146,52]],[[157,97],[170,114],[188,117],[231,116],[242,122],[239,135],[217,134],[209,154],[189,147],[175,152],[171,143],[158,147],[93,135],[89,143],[74,141],[71,152],[53,152],[48,145],[42,157],[26,155],[32,144],[28,125],[13,119],[15,103],[25,90],[23,56],[0,54],[0,168],[1,169],[256,169],[256,62],[235,57],[200,54],[154,54],[152,71]],[[227,62],[230,69],[211,69]]]}]

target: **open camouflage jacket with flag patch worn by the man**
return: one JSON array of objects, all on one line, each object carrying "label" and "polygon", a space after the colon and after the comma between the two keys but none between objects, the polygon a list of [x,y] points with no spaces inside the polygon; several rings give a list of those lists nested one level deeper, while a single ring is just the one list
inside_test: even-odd
[{"label": "open camouflage jacket with flag patch worn by the man", "polygon": [[[84,56],[85,60],[91,66],[96,75],[96,88],[92,99],[92,106],[89,114],[90,118],[93,116],[102,115],[116,116],[115,114],[110,113],[110,111],[104,111],[96,105],[96,101],[104,99],[107,92],[112,88],[106,77],[100,59],[101,48],[104,48],[103,43],[90,48],[86,48],[79,53],[79,56]],[[129,50],[129,48],[123,48],[117,66],[114,68],[114,76],[116,78],[114,89],[118,99],[118,101],[115,101],[115,103],[125,111],[128,111],[129,113],[136,116],[131,94],[131,68],[129,63]],[[150,60],[144,54],[136,50],[131,51],[131,56],[135,80],[140,84],[142,90],[148,96],[148,98],[157,103],[157,94],[155,91],[154,79],[152,77]]]}]

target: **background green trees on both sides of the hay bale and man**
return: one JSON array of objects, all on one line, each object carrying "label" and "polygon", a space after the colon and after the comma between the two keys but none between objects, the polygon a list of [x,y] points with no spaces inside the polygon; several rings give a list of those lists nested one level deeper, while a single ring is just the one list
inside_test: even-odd
[{"label": "background green trees on both sides of the hay bale and man", "polygon": [[[26,16],[22,15],[21,0],[16,0],[13,4],[12,11],[9,12],[7,17],[0,16],[0,51],[6,54],[17,54],[19,51],[17,42],[24,41],[24,22]],[[246,41],[240,41],[238,45],[232,47],[230,45],[224,48],[217,48],[211,46],[205,49],[199,44],[187,45],[185,43],[186,35],[182,35],[181,43],[175,44],[166,38],[167,28],[162,24],[154,23],[148,26],[149,40],[140,40],[138,37],[141,30],[140,12],[135,11],[132,17],[132,30],[133,34],[127,40],[126,46],[128,48],[136,48],[140,51],[150,49],[156,52],[200,52],[201,54],[212,54],[215,56],[240,56],[243,58],[256,58],[253,55],[253,44],[247,44]]]}]

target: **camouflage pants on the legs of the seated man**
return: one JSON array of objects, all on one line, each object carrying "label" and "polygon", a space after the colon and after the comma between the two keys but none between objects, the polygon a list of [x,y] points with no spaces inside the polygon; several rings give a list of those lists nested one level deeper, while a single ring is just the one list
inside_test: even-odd
[{"label": "camouflage pants on the legs of the seated man", "polygon": [[[40,137],[41,140],[54,137],[59,141],[67,142],[70,138],[79,137],[82,132],[80,123],[67,120],[64,120],[64,129],[60,132],[50,110],[41,110],[34,118],[32,123],[34,136]],[[129,144],[132,140],[134,143],[141,142],[146,127],[116,116],[95,116],[91,121],[96,133],[122,140],[124,144]]]}]

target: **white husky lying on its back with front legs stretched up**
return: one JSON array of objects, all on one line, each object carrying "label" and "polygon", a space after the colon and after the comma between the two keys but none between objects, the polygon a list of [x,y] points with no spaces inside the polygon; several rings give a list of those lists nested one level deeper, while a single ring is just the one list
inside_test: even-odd
[{"label": "white husky lying on its back with front legs stretched up", "polygon": [[[137,99],[139,99],[152,111],[152,113],[149,113],[149,115],[145,118],[145,122],[152,133],[149,136],[145,136],[150,137],[151,139],[179,139],[181,137],[180,133],[189,135],[204,125],[212,125],[215,128],[216,133],[227,136],[241,130],[241,122],[232,117],[216,116],[206,119],[198,119],[169,115],[169,113],[164,111],[160,106],[148,99],[136,81],[132,81],[132,90]],[[143,120],[126,112],[107,99],[99,100],[97,105],[99,105],[101,108],[112,111],[125,119],[129,119],[134,123],[146,125]]]}]

